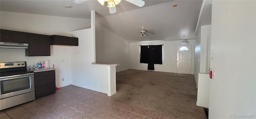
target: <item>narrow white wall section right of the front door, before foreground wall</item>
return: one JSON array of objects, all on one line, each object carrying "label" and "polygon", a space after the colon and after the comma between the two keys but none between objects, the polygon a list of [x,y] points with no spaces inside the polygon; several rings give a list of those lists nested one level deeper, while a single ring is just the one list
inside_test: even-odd
[{"label": "narrow white wall section right of the front door, before foreground wall", "polygon": [[211,35],[211,25],[200,26],[195,36],[195,69],[194,77],[198,85],[198,73],[206,73],[206,42],[207,36]]}]

